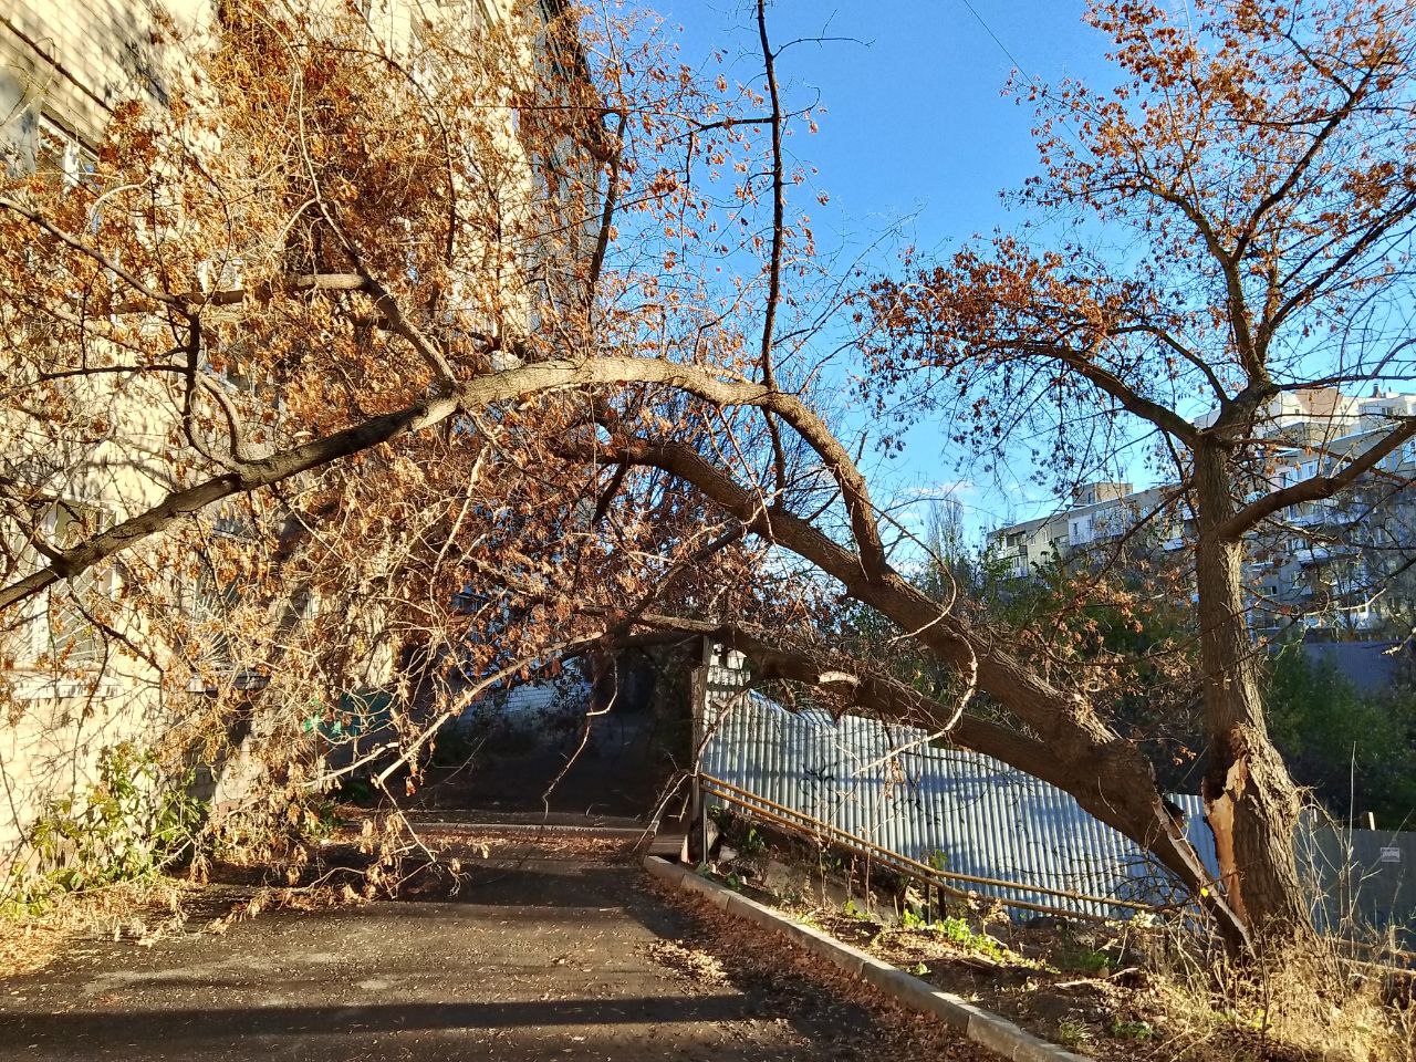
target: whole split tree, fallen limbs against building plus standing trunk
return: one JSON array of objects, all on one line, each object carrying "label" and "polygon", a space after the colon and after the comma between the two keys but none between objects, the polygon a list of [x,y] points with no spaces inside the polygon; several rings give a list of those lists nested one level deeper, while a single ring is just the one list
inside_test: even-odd
[{"label": "whole split tree, fallen limbs against building plus standing trunk", "polygon": [[[225,4],[187,64],[197,76],[160,109],[125,106],[92,174],[40,171],[0,195],[0,616],[16,634],[75,616],[96,632],[96,667],[72,640],[25,661],[92,702],[105,677],[142,671],[204,738],[255,714],[266,790],[282,794],[320,783],[299,725],[312,697],[402,683],[429,701],[395,718],[399,755],[416,759],[498,677],[714,636],[759,680],[1066,789],[1243,947],[1300,901],[1238,544],[1369,462],[1256,503],[1236,504],[1233,483],[1247,426],[1303,385],[1284,374],[1318,337],[1341,353],[1334,378],[1379,357],[1358,340],[1389,321],[1374,307],[1402,282],[1410,197],[1410,163],[1376,159],[1408,113],[1405,24],[1371,7],[1374,25],[1259,8],[1225,6],[1187,33],[1148,7],[1102,10],[1138,84],[1041,96],[1092,147],[1044,133],[1029,194],[1140,224],[1127,276],[1066,245],[1003,242],[862,304],[790,205],[810,181],[790,137],[810,115],[783,101],[760,0],[763,81],[738,93],[671,62],[646,25],[569,10],[549,27],[419,24],[395,48],[357,10]],[[1191,109],[1204,125],[1187,135]],[[1137,212],[1127,166],[1174,214]],[[1249,228],[1232,228],[1239,201]],[[1269,276],[1277,302],[1253,302]],[[1226,295],[1206,303],[1212,290]],[[1250,304],[1266,309],[1229,313]],[[886,409],[892,388],[949,415],[946,395],[980,416],[1007,395],[1069,423],[1100,398],[1103,415],[1177,440],[1208,521],[1202,607],[1222,620],[1205,627],[1222,888],[1090,681],[990,624],[963,588],[902,569],[860,439],[833,426],[841,370],[824,337],[840,330],[826,326],[852,306],[874,326],[858,346]],[[1279,338],[1314,320],[1347,327]],[[1395,371],[1391,351],[1378,371]],[[1191,377],[1221,406],[1211,428],[1170,401]],[[118,501],[75,506],[78,489]],[[954,680],[922,692],[858,651],[840,636],[843,599]],[[416,683],[391,663],[413,658]],[[33,704],[21,670],[6,671],[11,719]],[[977,692],[1005,715],[967,711]]]}]

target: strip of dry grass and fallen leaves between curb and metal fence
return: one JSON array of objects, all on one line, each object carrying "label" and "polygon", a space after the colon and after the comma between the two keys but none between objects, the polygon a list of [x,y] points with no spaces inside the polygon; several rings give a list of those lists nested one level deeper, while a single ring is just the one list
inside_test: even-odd
[{"label": "strip of dry grass and fallen leaves between curb and metal fence", "polygon": [[[1102,1062],[1412,1062],[1416,980],[1317,946],[1238,967],[1182,927],[1052,919],[1029,929],[967,906],[920,927],[857,903],[759,893],[848,943]],[[816,889],[804,889],[814,893]]]}]

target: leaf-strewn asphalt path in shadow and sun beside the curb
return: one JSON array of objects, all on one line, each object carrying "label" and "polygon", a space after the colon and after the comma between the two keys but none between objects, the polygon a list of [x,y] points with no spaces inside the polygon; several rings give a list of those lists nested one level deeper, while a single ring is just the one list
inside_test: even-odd
[{"label": "leaf-strewn asphalt path in shadow and sun beside the curb", "polygon": [[0,1058],[988,1058],[656,892],[624,845],[500,845],[450,898],[200,925],[0,980]]}]

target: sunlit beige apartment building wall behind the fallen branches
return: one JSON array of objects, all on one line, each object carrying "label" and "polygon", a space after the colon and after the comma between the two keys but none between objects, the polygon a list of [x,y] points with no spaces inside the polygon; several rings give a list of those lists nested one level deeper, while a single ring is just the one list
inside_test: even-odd
[{"label": "sunlit beige apartment building wall behind the fallen branches", "polygon": [[[309,7],[317,10],[319,1]],[[337,0],[324,1],[331,10],[344,7]],[[558,0],[541,0],[547,18],[561,7]],[[221,10],[219,0],[0,0],[0,161],[10,173],[41,171],[67,183],[84,181],[120,105],[137,99],[164,106],[190,72],[185,52],[161,41],[193,42],[219,33]],[[368,0],[361,7],[368,31],[395,52],[416,41],[428,20],[477,18],[489,24],[510,10],[510,0]],[[565,61],[564,55],[552,58]],[[513,127],[508,115],[511,156]],[[508,180],[530,187],[547,176],[538,173],[545,160],[521,156],[517,161]],[[571,166],[573,160],[559,163]],[[479,248],[473,246],[469,258],[467,275],[476,280]],[[225,283],[231,272],[229,262],[212,265],[207,273],[219,275],[217,280],[202,273],[190,283]],[[253,394],[253,385],[229,367],[201,370],[228,396]],[[71,548],[146,511],[173,487],[173,469],[184,462],[181,445],[174,449],[173,443],[181,438],[180,409],[160,384],[118,375],[74,384],[91,388],[88,401],[106,425],[95,439],[45,436],[42,418],[25,425],[0,418],[0,477],[20,484],[18,493],[25,496],[17,500],[11,497],[16,491],[8,491],[6,508],[0,508],[8,576],[23,575],[24,565],[38,566],[44,549]],[[259,401],[275,409],[280,395]],[[35,423],[41,423],[38,433]],[[269,430],[296,428],[275,416]],[[242,521],[231,511],[205,513],[198,520],[212,541],[244,534]],[[190,613],[188,627],[210,629],[201,660],[188,658],[185,647],[164,641],[125,610],[123,576],[116,566],[69,581],[61,593],[34,598],[4,617],[0,875],[25,824],[48,801],[91,782],[101,750],[161,733],[193,701],[207,697],[215,681],[228,691],[258,681],[239,661],[222,657],[222,605],[229,588],[217,578],[173,578],[183,583],[171,593],[173,607]],[[313,602],[290,606],[302,610]],[[370,668],[388,666],[385,654]],[[371,673],[370,683],[375,678]]]}]

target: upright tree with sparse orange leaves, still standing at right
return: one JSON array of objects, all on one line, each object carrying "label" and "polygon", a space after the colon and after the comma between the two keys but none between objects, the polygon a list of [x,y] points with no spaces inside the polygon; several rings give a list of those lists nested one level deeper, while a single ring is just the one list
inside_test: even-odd
[{"label": "upright tree with sparse orange leaves, still standing at right", "polygon": [[[1381,3],[1097,3],[1119,81],[1014,85],[1041,171],[1018,194],[1058,222],[970,245],[871,295],[884,389],[919,392],[961,440],[1045,439],[1076,483],[1097,425],[1144,439],[1175,484],[1141,523],[1192,514],[1187,544],[1206,731],[1205,814],[1222,886],[1260,927],[1307,925],[1300,794],[1269,739],[1246,541],[1365,481],[1416,421],[1276,433],[1287,396],[1410,381],[1416,16]],[[879,377],[877,377],[879,379]],[[1311,419],[1338,423],[1321,401]],[[1320,474],[1283,483],[1306,446]],[[1093,466],[1095,467],[1095,466]],[[1188,588],[1187,588],[1188,589]]]}]

